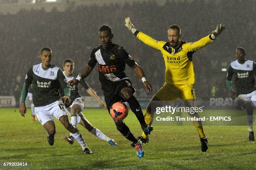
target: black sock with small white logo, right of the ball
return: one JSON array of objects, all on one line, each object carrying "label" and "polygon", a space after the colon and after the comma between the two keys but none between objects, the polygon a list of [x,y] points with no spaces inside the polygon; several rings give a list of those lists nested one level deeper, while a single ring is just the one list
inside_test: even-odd
[{"label": "black sock with small white logo, right of the ball", "polygon": [[131,96],[130,99],[127,100],[127,102],[129,103],[131,110],[133,111],[138,121],[140,122],[141,127],[143,128],[147,127],[142,110],[141,110],[141,106],[138,100],[134,96]]}]

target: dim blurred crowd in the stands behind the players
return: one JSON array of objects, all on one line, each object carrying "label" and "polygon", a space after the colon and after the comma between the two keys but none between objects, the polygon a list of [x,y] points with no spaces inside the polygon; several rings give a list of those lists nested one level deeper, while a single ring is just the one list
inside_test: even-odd
[{"label": "dim blurred crowd in the stands behind the players", "polygon": [[[152,94],[146,94],[141,80],[127,66],[126,74],[137,89],[136,95],[151,97],[164,84],[164,60],[158,50],[146,46],[128,31],[124,18],[129,16],[138,30],[161,41],[168,41],[167,28],[172,24],[181,27],[182,40],[194,42],[210,34],[217,24],[225,23],[227,29],[214,43],[194,53],[193,62],[197,97],[227,96],[226,72],[221,69],[236,60],[236,48],[244,47],[246,58],[255,58],[255,7],[255,0],[169,0],[162,6],[143,1],[122,6],[82,5],[64,12],[53,8],[50,13],[32,9],[0,15],[0,95],[20,95],[26,72],[41,62],[40,49],[44,46],[53,50],[54,65],[62,69],[63,60],[72,58],[75,71],[80,73],[92,49],[100,44],[100,25],[108,24],[113,28],[113,43],[128,51],[153,87]],[[98,95],[103,94],[97,68],[86,81]],[[85,90],[81,93],[86,95]]]}]

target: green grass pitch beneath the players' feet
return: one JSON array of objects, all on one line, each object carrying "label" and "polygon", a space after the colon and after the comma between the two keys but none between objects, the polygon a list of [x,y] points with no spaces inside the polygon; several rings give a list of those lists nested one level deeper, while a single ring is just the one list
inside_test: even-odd
[{"label": "green grass pitch beneath the players' feet", "polygon": [[[69,133],[55,120],[55,143],[50,146],[41,124],[31,121],[31,110],[21,117],[18,109],[0,109],[0,162],[29,162],[31,170],[223,170],[256,169],[256,144],[248,141],[245,126],[205,126],[209,140],[207,152],[201,152],[200,141],[193,126],[154,126],[149,144],[143,145],[144,157],[115,128],[106,110],[86,109],[85,117],[118,146],[110,146],[78,126],[93,154],[85,155],[77,142],[69,145],[63,137]],[[125,124],[137,137],[141,128],[133,113]],[[0,169],[23,169],[3,166]]]}]

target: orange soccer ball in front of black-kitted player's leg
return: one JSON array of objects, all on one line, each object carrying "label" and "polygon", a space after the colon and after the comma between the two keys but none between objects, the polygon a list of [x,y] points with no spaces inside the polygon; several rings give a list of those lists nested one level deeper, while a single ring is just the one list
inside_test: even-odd
[{"label": "orange soccer ball in front of black-kitted player's leg", "polygon": [[110,108],[110,115],[115,120],[125,119],[128,115],[128,107],[121,101],[116,102]]}]

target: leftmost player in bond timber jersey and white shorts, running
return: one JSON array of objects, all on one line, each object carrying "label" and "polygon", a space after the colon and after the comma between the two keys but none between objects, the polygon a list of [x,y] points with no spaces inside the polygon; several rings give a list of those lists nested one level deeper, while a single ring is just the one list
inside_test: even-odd
[{"label": "leftmost player in bond timber jersey and white shorts, running", "polygon": [[[46,129],[49,145],[54,145],[54,116],[72,133],[72,136],[82,147],[84,153],[92,153],[84,142],[79,130],[69,122],[67,110],[62,101],[69,103],[70,90],[61,69],[51,64],[51,49],[49,47],[42,48],[40,58],[42,62],[32,66],[26,74],[20,104],[21,116],[25,116],[25,99],[28,94],[28,88],[32,84],[36,117]],[[59,84],[64,89],[64,96],[61,97],[62,101],[60,101]]]}]

